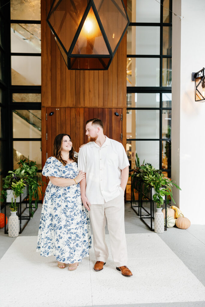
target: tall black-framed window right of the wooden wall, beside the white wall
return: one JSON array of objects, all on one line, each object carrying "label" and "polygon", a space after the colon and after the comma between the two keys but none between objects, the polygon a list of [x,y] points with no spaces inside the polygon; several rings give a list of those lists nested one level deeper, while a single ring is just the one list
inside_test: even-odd
[{"label": "tall black-framed window right of the wooden wall, beside the white wall", "polygon": [[[160,2],[160,1],[159,1]],[[171,0],[128,0],[127,155],[171,177]],[[165,9],[167,8],[167,9]]]}]

